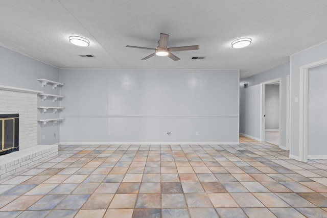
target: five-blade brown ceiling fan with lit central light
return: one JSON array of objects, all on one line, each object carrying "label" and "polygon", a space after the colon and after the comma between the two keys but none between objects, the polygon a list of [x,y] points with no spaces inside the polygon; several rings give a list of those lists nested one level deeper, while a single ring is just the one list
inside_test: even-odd
[{"label": "five-blade brown ceiling fan with lit central light", "polygon": [[167,47],[168,38],[169,38],[169,35],[160,33],[160,39],[158,41],[159,45],[155,49],[152,49],[151,47],[138,47],[138,46],[132,46],[132,45],[126,45],[126,47],[133,47],[135,49],[148,49],[148,50],[155,51],[155,53],[143,58],[142,60],[147,60],[155,55],[158,55],[158,56],[168,56],[169,58],[173,59],[174,61],[178,61],[178,60],[180,60],[180,58],[173,55],[171,52],[198,50],[199,49],[199,45]]}]

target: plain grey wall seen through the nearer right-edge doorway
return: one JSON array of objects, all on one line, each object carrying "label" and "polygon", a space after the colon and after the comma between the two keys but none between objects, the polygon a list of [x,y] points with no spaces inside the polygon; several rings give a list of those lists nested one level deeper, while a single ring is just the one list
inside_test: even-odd
[{"label": "plain grey wall seen through the nearer right-edge doorway", "polygon": [[309,69],[308,155],[327,155],[327,64]]}]

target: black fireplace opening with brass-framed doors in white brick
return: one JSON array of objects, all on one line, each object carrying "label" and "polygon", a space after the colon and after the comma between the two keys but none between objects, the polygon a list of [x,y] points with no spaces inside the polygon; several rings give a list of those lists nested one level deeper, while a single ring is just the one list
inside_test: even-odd
[{"label": "black fireplace opening with brass-framed doors in white brick", "polygon": [[0,155],[19,150],[19,114],[0,115]]}]

